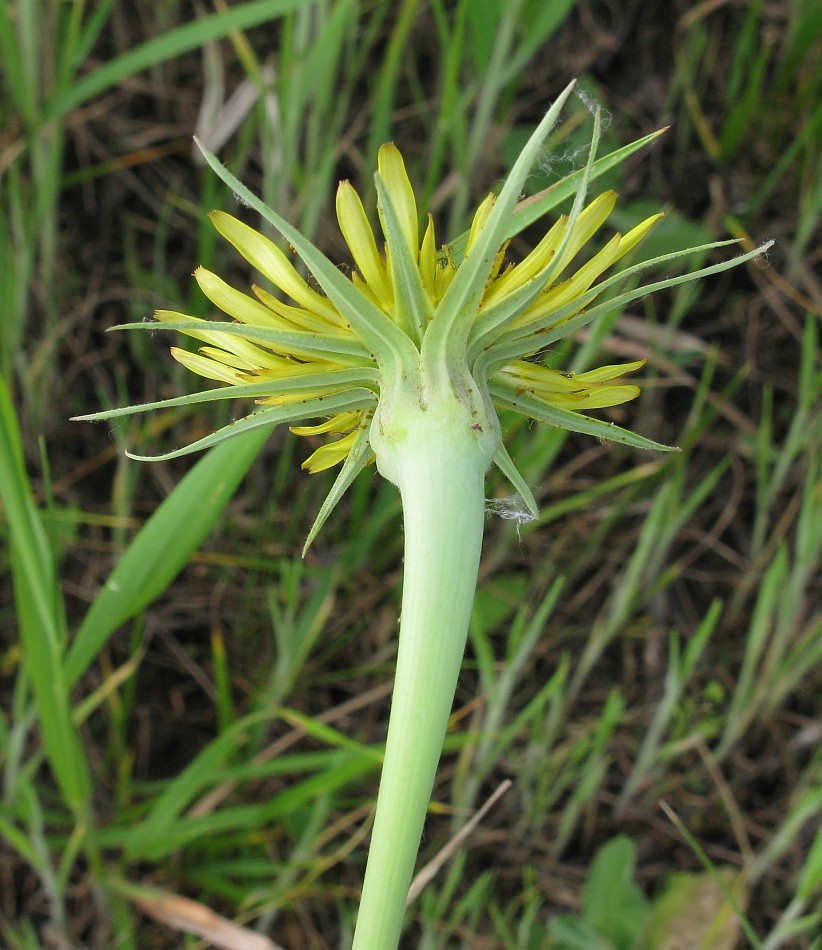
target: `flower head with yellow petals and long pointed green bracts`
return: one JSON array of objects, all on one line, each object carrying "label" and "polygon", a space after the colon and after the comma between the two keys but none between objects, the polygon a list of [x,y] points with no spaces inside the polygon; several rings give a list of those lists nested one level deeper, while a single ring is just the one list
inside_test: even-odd
[{"label": "flower head with yellow petals and long pointed green bracts", "polygon": [[[550,189],[536,205],[533,200],[519,201],[541,142],[570,90],[546,115],[499,196],[489,195],[480,204],[467,238],[450,246],[438,244],[430,215],[420,229],[403,158],[393,144],[384,145],[375,175],[381,239],[375,237],[352,185],[343,181],[337,191],[337,220],[354,263],[349,276],[203,149],[223,180],[289,242],[313,280],[302,277],[267,237],[232,215],[212,212],[214,227],[269,286],[255,284],[250,294],[243,293],[200,267],[195,271],[200,288],[228,319],[199,320],[168,310],[156,317],[168,329],[203,343],[196,353],[173,347],[174,358],[224,386],[84,418],[219,398],[246,397],[260,407],[243,425],[226,427],[161,458],[206,448],[234,432],[272,422],[300,423],[291,428],[301,436],[328,436],[303,463],[311,472],[342,466],[309,540],[375,454],[380,465],[380,445],[386,444],[391,429],[392,407],[399,404],[425,409],[444,405],[446,399],[462,407],[460,424],[477,433],[489,462],[493,459],[503,470],[534,514],[530,490],[501,443],[499,409],[610,441],[665,449],[586,414],[637,396],[638,387],[625,376],[643,360],[575,374],[543,365],[541,354],[556,340],[649,289],[731,264],[614,294],[617,281],[695,249],[608,274],[651,231],[661,217],[656,214],[586,254],[617,200],[612,191],[586,198],[590,181],[608,167],[605,160],[595,162],[598,120],[586,167]],[[651,137],[617,153],[617,160]],[[615,164],[613,156],[608,160]],[[512,262],[511,236],[553,207],[563,192],[574,195],[570,212],[553,222],[530,254]],[[381,465],[381,470],[391,477],[390,465]]]}]

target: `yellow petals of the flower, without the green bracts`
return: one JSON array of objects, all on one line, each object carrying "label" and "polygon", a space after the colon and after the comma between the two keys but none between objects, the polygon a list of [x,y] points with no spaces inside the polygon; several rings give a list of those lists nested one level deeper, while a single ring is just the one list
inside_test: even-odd
[{"label": "yellow petals of the flower, without the green bracts", "polygon": [[[392,247],[394,242],[384,211],[380,209],[380,220],[386,241],[380,248],[359,195],[349,182],[343,181],[337,190],[336,207],[340,230],[355,265],[350,279],[354,287],[419,348],[426,328],[436,320],[437,308],[458,265],[447,245],[438,247],[430,215],[420,239],[414,191],[402,156],[393,144],[380,149],[378,168],[399,218],[400,238],[418,270],[424,291],[421,306],[416,308],[418,312],[413,312],[414,308],[409,306],[411,295],[404,294],[400,284],[403,274],[394,258],[406,252],[406,248]],[[559,218],[537,247],[518,264],[505,262],[507,241],[497,249],[493,270],[470,327],[471,346],[474,350],[478,345],[480,349],[487,347],[490,341],[497,343],[501,335],[512,340],[528,340],[518,358],[489,375],[488,382],[496,393],[492,398],[498,408],[516,408],[511,405],[512,401],[527,394],[546,408],[578,412],[615,406],[639,393],[637,386],[625,384],[621,377],[638,369],[642,361],[574,375],[549,369],[535,360],[544,346],[546,333],[569,321],[594,299],[595,295],[587,292],[596,280],[632,250],[661,217],[654,215],[628,234],[614,235],[601,251],[574,266],[586,244],[605,224],[616,197],[612,191],[599,195],[577,215],[570,228],[567,216]],[[466,255],[471,254],[494,202],[494,196],[489,196],[474,215]],[[375,407],[379,398],[380,366],[368,353],[367,341],[360,339],[327,296],[314,290],[300,276],[272,241],[225,212],[215,211],[210,217],[220,234],[288,301],[257,285],[251,288],[253,296],[243,294],[216,274],[198,268],[195,278],[216,307],[249,328],[278,330],[284,334],[294,331],[322,334],[350,343],[353,349],[346,353],[318,353],[307,350],[297,339],[292,343],[287,337],[276,344],[260,343],[243,338],[240,328],[229,334],[210,329],[208,321],[202,321],[202,329],[198,326],[183,332],[208,345],[196,354],[172,348],[174,358],[193,372],[219,382],[234,385],[270,382],[271,394],[261,394],[256,400],[261,405],[283,405],[344,393],[353,388],[354,383],[362,386],[365,380],[351,376],[341,381],[340,374],[346,369],[370,366],[376,374],[369,383]],[[516,306],[517,293],[540,278],[544,286],[535,298],[524,306]],[[167,310],[159,311],[157,319],[172,323],[192,320]],[[361,350],[357,344],[362,344]],[[479,352],[477,350],[477,355]],[[305,385],[283,391],[283,381],[298,384],[300,379],[306,380]],[[314,452],[303,467],[319,472],[342,463],[354,447],[357,435],[367,431],[373,412],[373,407],[344,409],[330,414],[321,424],[292,427],[291,431],[298,435],[327,433],[337,437]]]}]

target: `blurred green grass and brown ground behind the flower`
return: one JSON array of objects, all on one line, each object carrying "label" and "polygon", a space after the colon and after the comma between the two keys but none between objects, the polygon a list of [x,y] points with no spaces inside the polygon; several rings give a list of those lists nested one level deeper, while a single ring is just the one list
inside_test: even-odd
[{"label": "blurred green grass and brown ground behind the flower", "polygon": [[[163,895],[281,947],[350,942],[395,649],[395,491],[360,476],[302,561],[333,478],[299,472],[304,440],[251,432],[140,465],[123,449],[174,448],[230,412],[110,436],[67,419],[191,386],[165,338],[102,331],[155,306],[207,314],[194,265],[236,267],[207,227],[235,207],[191,158],[195,127],[347,266],[338,178],[367,190],[393,138],[458,235],[583,51],[603,153],[674,126],[602,178],[620,228],[650,203],[669,211],[658,254],[777,243],[769,268],[669,288],[550,354],[647,356],[641,400],[613,418],[681,453],[507,420],[541,517],[489,517],[420,867],[513,785],[415,900],[407,946],[572,945],[621,833],[636,848],[604,853],[654,927],[682,926],[665,895],[694,881],[728,913],[728,880],[735,937],[818,948],[817,5],[694,8],[668,51],[669,24],[619,39],[572,3],[186,9],[0,2],[0,942],[178,947]],[[575,100],[530,191],[581,166],[589,125]],[[710,925],[691,915],[691,939]]]}]

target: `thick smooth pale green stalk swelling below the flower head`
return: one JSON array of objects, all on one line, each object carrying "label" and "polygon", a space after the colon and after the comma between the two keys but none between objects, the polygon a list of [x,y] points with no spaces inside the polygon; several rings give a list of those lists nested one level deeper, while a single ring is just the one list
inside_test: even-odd
[{"label": "thick smooth pale green stalk swelling below the flower head", "polygon": [[490,461],[470,414],[456,402],[401,415],[385,445],[372,437],[380,470],[402,496],[405,565],[391,717],[354,950],[395,950],[399,943],[465,649]]}]

